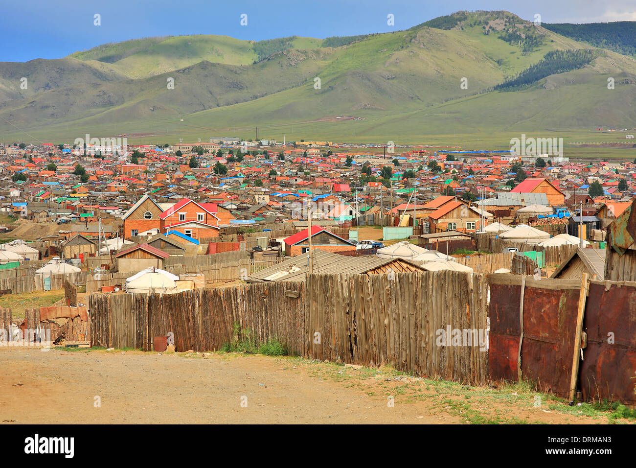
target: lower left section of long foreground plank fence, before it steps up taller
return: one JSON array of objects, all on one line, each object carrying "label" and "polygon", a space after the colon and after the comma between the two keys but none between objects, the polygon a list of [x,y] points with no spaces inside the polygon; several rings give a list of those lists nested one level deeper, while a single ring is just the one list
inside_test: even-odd
[{"label": "lower left section of long foreground plank fence, before it steps up taller", "polygon": [[303,303],[303,283],[282,282],[178,294],[91,295],[91,343],[149,351],[153,337],[170,336],[178,351],[218,350],[238,323],[258,343],[278,337],[303,354],[304,316],[298,308]]}]

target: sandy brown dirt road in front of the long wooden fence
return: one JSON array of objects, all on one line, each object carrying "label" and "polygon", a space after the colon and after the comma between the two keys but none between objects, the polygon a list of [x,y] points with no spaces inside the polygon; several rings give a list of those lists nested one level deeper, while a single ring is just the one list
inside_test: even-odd
[{"label": "sandy brown dirt road in front of the long wooden fence", "polygon": [[[517,401],[508,392],[484,400],[484,392],[494,390],[300,358],[0,350],[3,423],[607,421],[533,408],[532,395]],[[394,407],[387,404],[389,395]]]}]

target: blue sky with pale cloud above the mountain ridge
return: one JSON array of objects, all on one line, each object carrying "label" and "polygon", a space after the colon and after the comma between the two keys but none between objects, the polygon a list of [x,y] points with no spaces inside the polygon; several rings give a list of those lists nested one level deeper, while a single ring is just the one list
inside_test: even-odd
[{"label": "blue sky with pale cloud above the mountain ridge", "polygon": [[[151,36],[259,41],[399,31],[460,10],[507,10],[532,21],[539,14],[544,23],[636,20],[636,0],[19,0],[0,6],[0,62],[57,59]],[[241,15],[247,25],[240,24]]]}]

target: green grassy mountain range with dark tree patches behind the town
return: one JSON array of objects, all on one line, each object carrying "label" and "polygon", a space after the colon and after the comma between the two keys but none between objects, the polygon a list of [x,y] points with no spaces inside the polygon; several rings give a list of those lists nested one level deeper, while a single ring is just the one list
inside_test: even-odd
[{"label": "green grassy mountain range with dark tree patches behind the town", "polygon": [[134,39],[0,65],[5,141],[86,132],[249,138],[258,126],[261,138],[281,141],[397,143],[636,120],[632,57],[506,11],[462,11],[406,31],[342,38]]}]

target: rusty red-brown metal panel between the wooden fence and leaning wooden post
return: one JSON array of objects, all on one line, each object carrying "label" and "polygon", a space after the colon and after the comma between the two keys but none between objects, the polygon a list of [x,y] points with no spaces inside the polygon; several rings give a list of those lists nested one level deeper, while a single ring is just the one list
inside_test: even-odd
[{"label": "rusty red-brown metal panel between the wooden fence and leaning wooden post", "polygon": [[488,283],[490,378],[527,379],[567,398],[580,283],[509,274],[488,275]]}]

